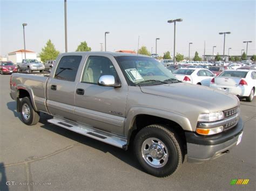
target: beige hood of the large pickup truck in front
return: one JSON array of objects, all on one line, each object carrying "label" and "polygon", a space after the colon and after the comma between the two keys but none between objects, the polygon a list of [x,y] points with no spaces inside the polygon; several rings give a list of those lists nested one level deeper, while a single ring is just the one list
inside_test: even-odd
[{"label": "beige hood of the large pickup truck in front", "polygon": [[239,100],[225,91],[189,83],[169,83],[140,87],[143,93],[169,97],[177,101],[200,105],[209,111],[224,111],[237,107]]}]

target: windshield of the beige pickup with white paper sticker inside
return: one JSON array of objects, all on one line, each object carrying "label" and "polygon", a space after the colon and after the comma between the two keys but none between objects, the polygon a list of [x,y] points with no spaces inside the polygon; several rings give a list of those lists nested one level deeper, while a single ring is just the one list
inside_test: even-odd
[{"label": "windshield of the beige pickup with white paper sticker inside", "polygon": [[[153,58],[142,56],[116,56],[126,80],[131,85],[138,84],[156,85],[179,82],[160,62]],[[164,82],[165,81],[165,82]]]}]

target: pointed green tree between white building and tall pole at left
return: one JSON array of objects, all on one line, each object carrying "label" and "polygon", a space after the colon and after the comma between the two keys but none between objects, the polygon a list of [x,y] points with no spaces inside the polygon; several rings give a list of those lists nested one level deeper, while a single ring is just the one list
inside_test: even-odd
[{"label": "pointed green tree between white building and tall pole at left", "polygon": [[58,55],[59,51],[55,49],[55,46],[50,39],[47,41],[46,46],[42,48],[41,53],[39,53],[42,62],[45,62],[46,60],[56,60]]}]

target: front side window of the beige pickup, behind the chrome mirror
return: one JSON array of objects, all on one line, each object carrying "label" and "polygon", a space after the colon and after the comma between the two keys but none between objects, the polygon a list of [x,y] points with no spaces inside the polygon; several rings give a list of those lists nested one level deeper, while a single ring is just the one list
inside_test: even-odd
[{"label": "front side window of the beige pickup, behind the chrome mirror", "polygon": [[103,56],[90,56],[86,62],[81,82],[97,84],[102,75],[112,75],[117,80],[117,72],[110,59]]}]

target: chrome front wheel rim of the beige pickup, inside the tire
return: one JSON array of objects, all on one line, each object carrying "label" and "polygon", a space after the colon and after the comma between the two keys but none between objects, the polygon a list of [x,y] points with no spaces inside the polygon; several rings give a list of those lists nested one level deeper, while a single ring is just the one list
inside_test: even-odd
[{"label": "chrome front wheel rim of the beige pickup, inside the tire", "polygon": [[166,165],[169,153],[161,140],[150,137],[142,144],[142,157],[150,166],[160,168]]}]

